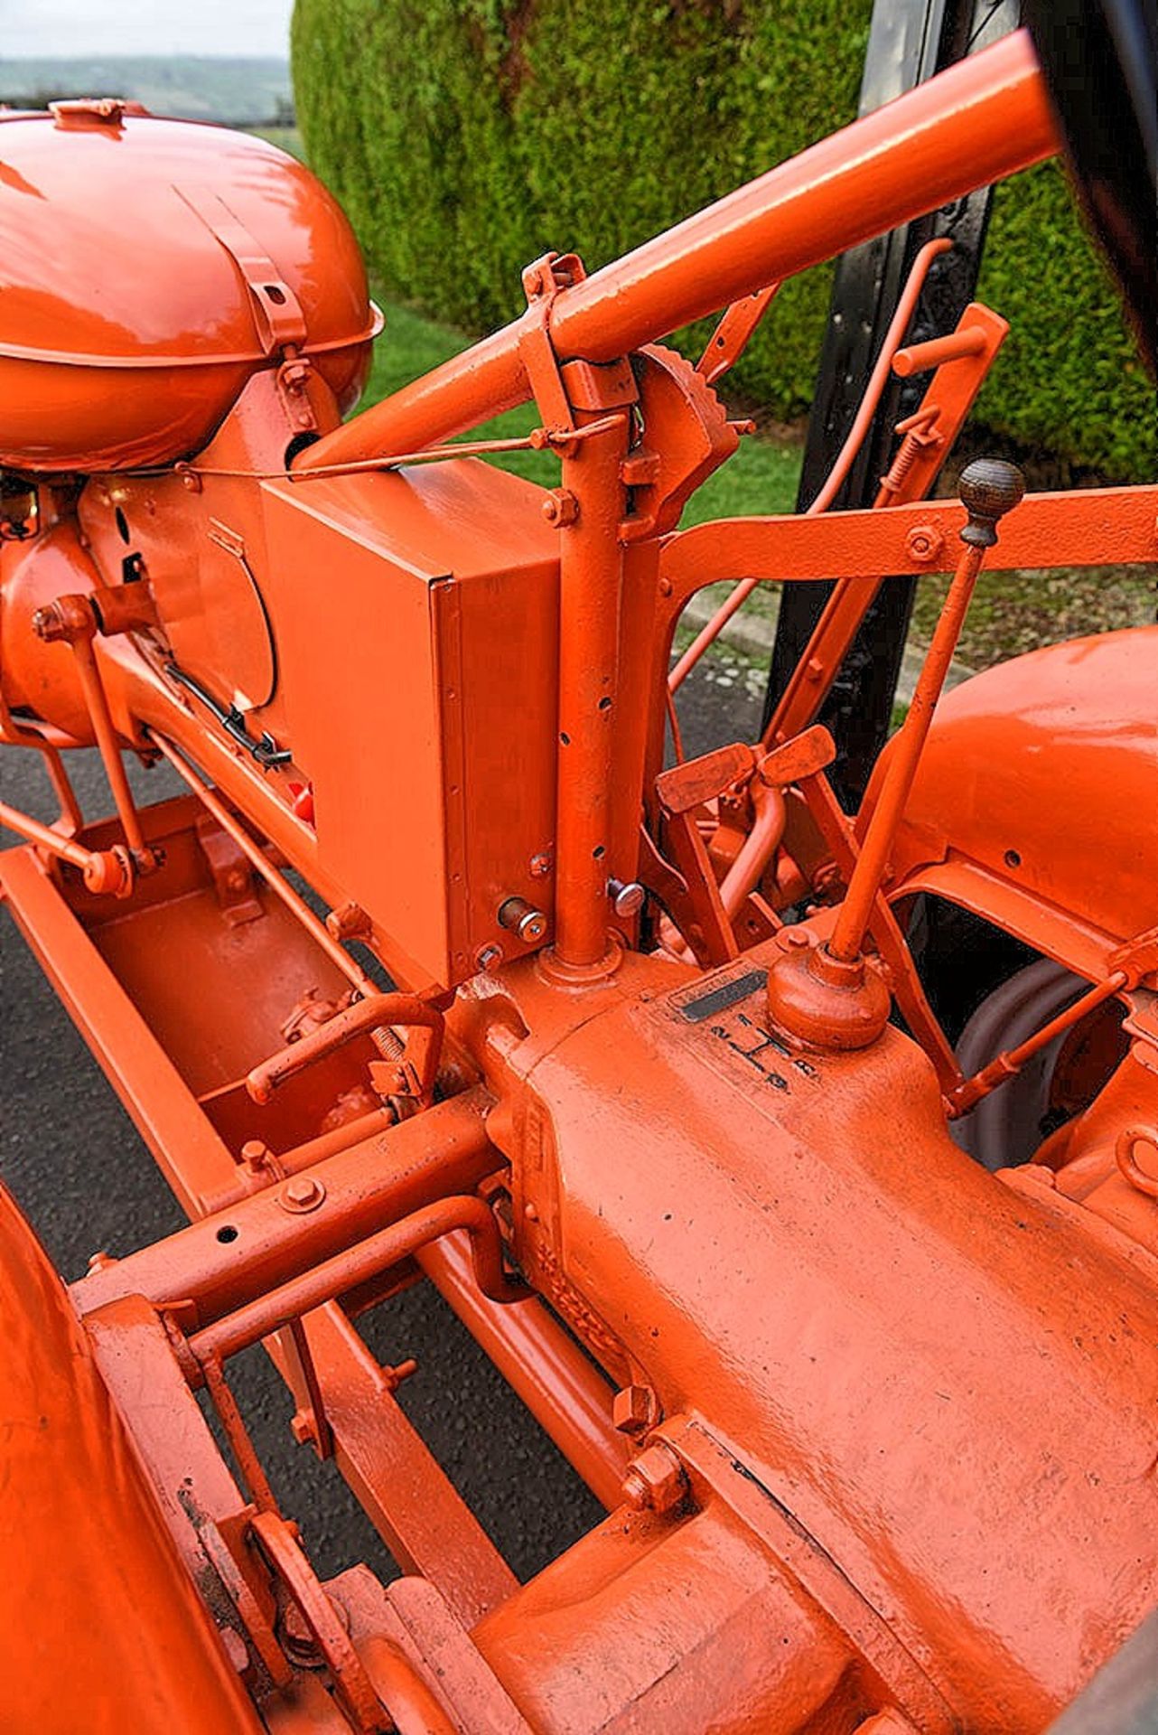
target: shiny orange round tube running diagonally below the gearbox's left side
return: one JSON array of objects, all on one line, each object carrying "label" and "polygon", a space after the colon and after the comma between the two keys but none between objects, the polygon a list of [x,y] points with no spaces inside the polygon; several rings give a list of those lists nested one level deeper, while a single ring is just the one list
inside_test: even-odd
[{"label": "shiny orange round tube running diagonally below the gearbox's left side", "polygon": [[612,1388],[574,1339],[534,1296],[487,1300],[458,1234],[421,1247],[418,1265],[595,1497],[619,1506],[628,1442],[612,1426]]}]

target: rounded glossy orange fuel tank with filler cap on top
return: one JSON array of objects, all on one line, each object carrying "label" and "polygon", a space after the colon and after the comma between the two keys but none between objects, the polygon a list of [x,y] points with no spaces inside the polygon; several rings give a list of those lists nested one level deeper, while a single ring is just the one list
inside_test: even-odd
[{"label": "rounded glossy orange fuel tank with filler cap on top", "polygon": [[109,99],[3,116],[0,463],[172,463],[286,352],[348,409],[374,330],[347,219],[265,141]]}]

